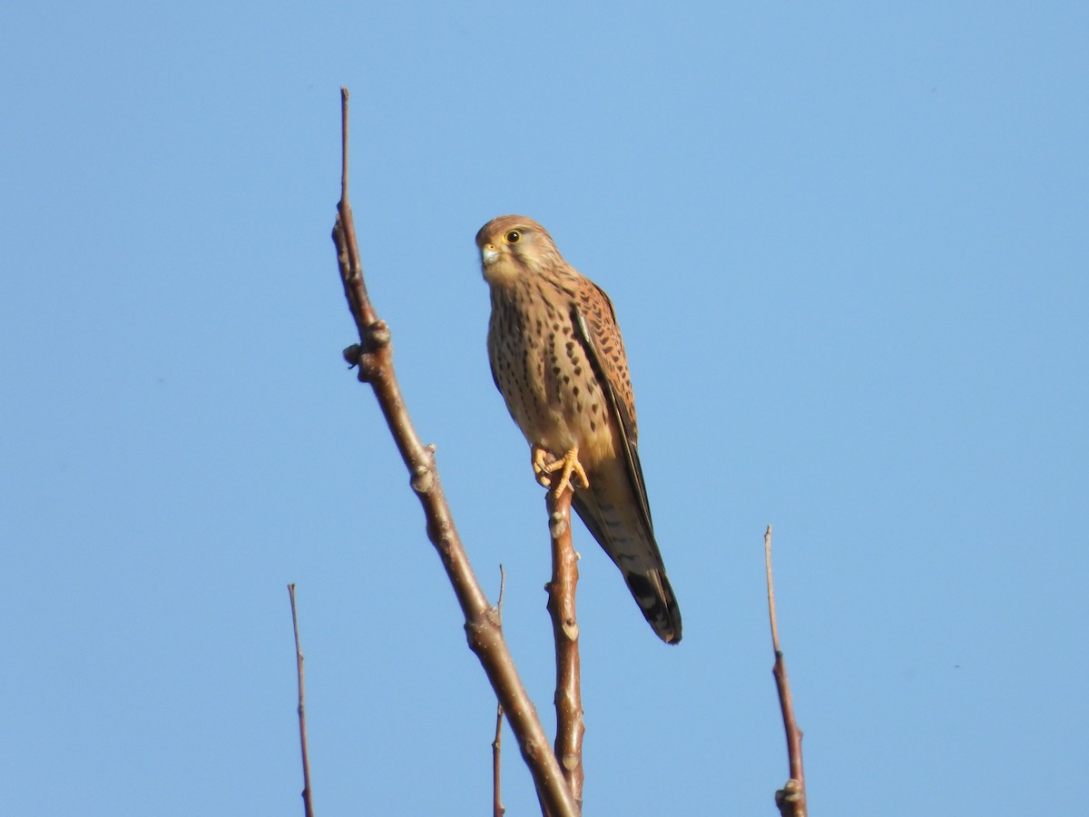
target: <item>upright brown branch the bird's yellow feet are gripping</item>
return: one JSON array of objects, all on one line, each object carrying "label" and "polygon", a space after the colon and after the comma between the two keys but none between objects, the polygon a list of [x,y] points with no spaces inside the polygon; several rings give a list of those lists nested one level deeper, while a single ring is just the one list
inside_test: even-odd
[{"label": "upright brown branch the bird's yellow feet are gripping", "polygon": [[578,656],[578,621],[575,618],[575,588],[578,586],[578,556],[571,541],[568,488],[560,497],[548,492],[549,534],[552,541],[552,581],[548,584],[548,610],[555,641],[555,756],[571,793],[583,805],[583,692]]}]

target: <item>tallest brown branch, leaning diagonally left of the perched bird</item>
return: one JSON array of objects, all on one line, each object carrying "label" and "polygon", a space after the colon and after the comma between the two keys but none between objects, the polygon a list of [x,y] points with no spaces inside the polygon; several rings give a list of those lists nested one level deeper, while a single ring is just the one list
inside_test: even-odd
[{"label": "tallest brown branch, leaning diagonally left of the perched bird", "polygon": [[[347,144],[347,90],[341,89],[342,139]],[[461,537],[454,527],[450,505],[442,491],[442,483],[435,464],[435,447],[419,439],[408,416],[401,388],[393,369],[390,329],[380,320],[367,296],[363,280],[363,265],[355,237],[352,208],[347,194],[347,151],[342,161],[341,192],[337,206],[333,242],[344,295],[359,331],[359,343],[344,350],[344,358],[358,366],[358,377],[375,390],[375,397],[386,423],[412,475],[413,490],[424,508],[427,535],[439,552],[446,576],[465,615],[465,632],[469,648],[476,654],[488,675],[492,688],[503,705],[503,712],[511,723],[511,731],[518,741],[522,756],[534,776],[534,784],[542,807],[552,817],[575,817],[578,814],[574,798],[555,756],[549,751],[548,737],[541,727],[537,710],[518,678],[514,660],[503,639],[498,613],[480,588],[473,573]]]}]

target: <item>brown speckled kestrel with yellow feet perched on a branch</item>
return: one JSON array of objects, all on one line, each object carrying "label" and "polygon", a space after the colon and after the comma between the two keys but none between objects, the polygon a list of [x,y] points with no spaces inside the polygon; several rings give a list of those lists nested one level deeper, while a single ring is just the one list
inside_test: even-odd
[{"label": "brown speckled kestrel with yellow feet perched on a branch", "polygon": [[651,629],[681,641],[639,464],[635,398],[612,301],[539,223],[499,216],[477,233],[491,294],[488,359],[534,473],[620,568]]}]

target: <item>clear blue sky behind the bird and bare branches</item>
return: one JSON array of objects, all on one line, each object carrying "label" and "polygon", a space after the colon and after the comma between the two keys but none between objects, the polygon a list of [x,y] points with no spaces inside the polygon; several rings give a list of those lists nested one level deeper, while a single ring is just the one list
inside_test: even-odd
[{"label": "clear blue sky behind the bird and bare branches", "polygon": [[[402,387],[551,732],[543,497],[473,236],[613,297],[663,646],[580,526],[587,813],[1068,808],[1089,618],[1080,3],[9,4],[0,620],[12,814],[479,814],[493,697],[353,341]],[[533,814],[505,765],[511,814]]]}]

